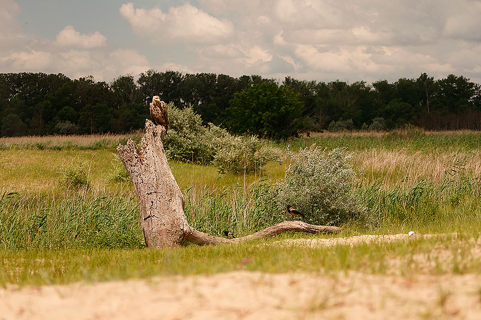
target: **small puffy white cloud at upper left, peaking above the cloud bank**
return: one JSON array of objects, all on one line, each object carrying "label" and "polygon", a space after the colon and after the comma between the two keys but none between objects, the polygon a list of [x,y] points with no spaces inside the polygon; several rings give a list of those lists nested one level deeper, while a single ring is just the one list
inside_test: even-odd
[{"label": "small puffy white cloud at upper left, peaking above the cloud bank", "polygon": [[55,44],[60,47],[78,48],[78,49],[92,49],[103,47],[107,43],[107,38],[95,31],[90,34],[80,34],[75,31],[73,25],[67,25],[55,37]]}]

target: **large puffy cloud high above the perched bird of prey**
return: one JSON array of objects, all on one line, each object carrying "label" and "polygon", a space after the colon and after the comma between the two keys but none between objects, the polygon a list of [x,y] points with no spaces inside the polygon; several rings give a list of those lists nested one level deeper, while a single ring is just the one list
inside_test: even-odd
[{"label": "large puffy cloud high above the perched bird of prey", "polygon": [[216,45],[234,37],[234,25],[227,19],[217,19],[185,3],[170,7],[168,14],[159,8],[134,9],[129,2],[120,8],[136,34],[153,38],[158,44],[188,42],[197,45]]}]

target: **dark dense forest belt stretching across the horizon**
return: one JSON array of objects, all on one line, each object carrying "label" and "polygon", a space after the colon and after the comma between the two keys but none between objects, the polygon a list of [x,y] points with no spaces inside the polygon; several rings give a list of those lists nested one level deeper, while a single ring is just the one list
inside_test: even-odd
[{"label": "dark dense forest belt stretching across the horizon", "polygon": [[135,81],[92,76],[0,74],[0,136],[124,133],[144,126],[148,104],[160,96],[191,105],[205,124],[234,133],[287,138],[310,130],[481,130],[481,87],[456,75],[417,79],[318,82],[259,75],[182,74],[149,70]]}]

